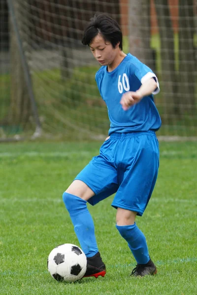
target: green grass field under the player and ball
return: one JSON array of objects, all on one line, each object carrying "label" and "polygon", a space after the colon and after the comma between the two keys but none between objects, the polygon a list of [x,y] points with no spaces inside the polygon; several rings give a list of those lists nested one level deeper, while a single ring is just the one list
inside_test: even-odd
[{"label": "green grass field under the player and ball", "polygon": [[[62,193],[98,154],[100,143],[0,145],[0,295],[197,294],[197,143],[160,143],[158,181],[137,224],[144,232],[156,276],[131,278],[135,266],[115,228],[113,196],[89,207],[104,278],[58,283],[47,271],[50,251],[78,244]],[[140,177],[140,176],[139,176]]]}]

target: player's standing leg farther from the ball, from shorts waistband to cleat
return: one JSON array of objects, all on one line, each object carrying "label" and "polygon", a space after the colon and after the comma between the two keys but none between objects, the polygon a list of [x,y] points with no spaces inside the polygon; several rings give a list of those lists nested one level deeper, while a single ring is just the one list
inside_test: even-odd
[{"label": "player's standing leg farther from the ball, from shorts waistband to cleat", "polygon": [[112,202],[117,208],[117,229],[127,240],[137,262],[132,275],[154,274],[157,270],[150,260],[146,238],[135,224],[135,216],[143,214],[155,186],[159,167],[158,142],[153,133],[142,133],[132,137],[125,135],[123,144],[127,150],[132,147],[133,152],[130,155],[124,147],[121,149],[127,169],[119,175],[121,184]]}]

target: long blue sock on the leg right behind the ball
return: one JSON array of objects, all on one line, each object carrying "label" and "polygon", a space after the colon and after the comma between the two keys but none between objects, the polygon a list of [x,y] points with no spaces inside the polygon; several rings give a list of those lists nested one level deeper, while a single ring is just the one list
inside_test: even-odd
[{"label": "long blue sock on the leg right behind the ball", "polygon": [[63,194],[63,201],[70,214],[81,249],[87,257],[94,256],[99,250],[95,237],[95,226],[88,211],[87,202],[66,192]]}]

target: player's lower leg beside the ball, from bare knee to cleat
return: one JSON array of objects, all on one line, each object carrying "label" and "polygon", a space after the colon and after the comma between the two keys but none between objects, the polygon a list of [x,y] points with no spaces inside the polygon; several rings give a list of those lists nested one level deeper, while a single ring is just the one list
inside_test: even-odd
[{"label": "player's lower leg beside the ball, from bare knee to cleat", "polygon": [[[86,184],[80,180],[75,180],[73,185],[77,188],[76,193],[84,198],[88,199],[88,196],[92,196],[94,194],[89,187],[86,189]],[[68,192],[73,192],[73,185],[67,189]],[[81,193],[79,193],[80,186]],[[70,194],[67,191],[63,194],[63,201],[70,214],[71,221],[74,225],[74,231],[81,248],[87,256],[87,270],[84,276],[104,276],[106,273],[105,265],[103,264],[99,254],[95,237],[94,222],[90,212],[88,211],[86,204],[87,201]]]}]

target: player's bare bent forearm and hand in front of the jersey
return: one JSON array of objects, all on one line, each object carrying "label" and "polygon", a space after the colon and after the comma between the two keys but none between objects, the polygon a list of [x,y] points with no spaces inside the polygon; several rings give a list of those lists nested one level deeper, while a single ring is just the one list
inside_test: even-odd
[{"label": "player's bare bent forearm and hand in front of the jersey", "polygon": [[138,90],[135,92],[128,91],[125,92],[121,97],[121,105],[124,111],[127,111],[131,106],[138,103],[142,97],[148,96],[154,92],[155,89],[157,89],[157,82],[154,78],[148,79],[146,82],[144,82]]}]

